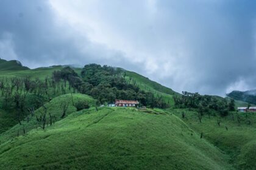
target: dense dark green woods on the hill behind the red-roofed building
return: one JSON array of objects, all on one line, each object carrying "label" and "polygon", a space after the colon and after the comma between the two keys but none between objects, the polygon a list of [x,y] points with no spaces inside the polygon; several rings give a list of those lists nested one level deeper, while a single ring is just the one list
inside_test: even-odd
[{"label": "dense dark green woods on the hill behind the red-roofed building", "polygon": [[143,106],[168,107],[160,97],[145,92],[135,84],[127,83],[125,73],[119,68],[88,64],[82,69],[81,77],[70,67],[53,73],[56,80],[68,81],[71,87],[82,94],[96,98],[98,103],[113,103],[116,99],[138,100]]}]

